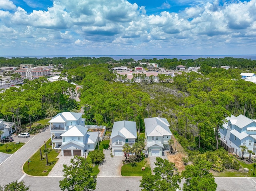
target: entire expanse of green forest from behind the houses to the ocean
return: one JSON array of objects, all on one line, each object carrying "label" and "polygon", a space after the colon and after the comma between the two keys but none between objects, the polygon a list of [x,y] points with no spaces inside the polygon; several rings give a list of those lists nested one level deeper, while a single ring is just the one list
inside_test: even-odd
[{"label": "entire expanse of green forest from behind the houses to the ocean", "polygon": [[[4,63],[3,58],[0,60]],[[39,60],[34,59],[31,63],[39,63]],[[167,118],[172,133],[186,148],[190,160],[196,160],[201,154],[201,158],[214,163],[215,167],[212,168],[216,171],[239,168],[220,148],[218,130],[231,114],[256,118],[256,84],[240,79],[241,72],[254,71],[255,61],[232,58],[186,62],[177,59],[142,60],[170,68],[178,64],[186,67],[200,65],[202,75],[184,72],[175,76],[170,83],[170,80],[165,80],[170,79],[169,76],[159,74],[162,79],[160,83],[146,80],[131,83],[114,81],[116,75],[111,68],[121,63],[136,64],[132,59],[114,61],[108,57],[60,57],[50,60],[65,66],[60,71],[68,82],[83,86],[78,90],[81,101],[73,99],[76,96],[75,86],[66,81],[50,83],[41,77],[28,81],[20,89],[11,87],[0,93],[0,118],[16,122],[18,130],[23,123],[31,124],[38,118],[54,116],[62,111],[76,111],[80,107],[84,107],[86,124],[106,125],[110,130],[114,121],[131,120],[136,121],[138,132],[143,132],[143,119],[158,116]],[[46,61],[50,63],[50,60],[41,60],[40,64],[46,64]],[[16,58],[13,62],[18,63]],[[221,69],[220,65],[232,67],[226,70]]]}]

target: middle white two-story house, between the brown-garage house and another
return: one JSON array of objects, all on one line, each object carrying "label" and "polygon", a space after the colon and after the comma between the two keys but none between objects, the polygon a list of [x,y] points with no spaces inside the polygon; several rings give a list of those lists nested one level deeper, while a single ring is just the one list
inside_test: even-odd
[{"label": "middle white two-story house, between the brown-garage house and another", "polygon": [[114,122],[110,139],[112,141],[112,154],[114,156],[123,156],[124,144],[131,147],[137,138],[136,122],[134,121],[116,121]]}]

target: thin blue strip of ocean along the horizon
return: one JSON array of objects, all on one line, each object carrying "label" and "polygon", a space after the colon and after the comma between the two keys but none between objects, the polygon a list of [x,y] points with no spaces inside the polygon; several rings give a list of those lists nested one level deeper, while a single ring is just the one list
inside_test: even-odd
[{"label": "thin blue strip of ocean along the horizon", "polygon": [[123,60],[123,59],[134,59],[136,61],[142,60],[142,59],[173,59],[177,58],[186,60],[186,59],[198,59],[198,58],[224,58],[224,57],[232,57],[232,58],[244,58],[244,59],[251,59],[251,60],[256,60],[256,55],[43,55],[43,56],[0,56],[0,57],[6,57],[6,58],[14,58],[14,57],[19,57],[19,58],[54,58],[54,57],[66,57],[71,58],[71,57],[111,57],[114,60]]}]

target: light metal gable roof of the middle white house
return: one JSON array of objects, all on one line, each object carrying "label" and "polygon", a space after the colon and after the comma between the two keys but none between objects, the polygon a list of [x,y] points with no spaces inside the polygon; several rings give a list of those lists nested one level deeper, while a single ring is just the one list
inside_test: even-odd
[{"label": "light metal gable roof of the middle white house", "polygon": [[126,139],[136,139],[137,130],[134,121],[116,121],[114,122],[110,138],[121,136]]}]

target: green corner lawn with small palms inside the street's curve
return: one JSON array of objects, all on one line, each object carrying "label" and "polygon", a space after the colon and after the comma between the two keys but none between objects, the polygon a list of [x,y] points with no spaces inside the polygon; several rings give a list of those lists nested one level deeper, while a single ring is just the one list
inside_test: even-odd
[{"label": "green corner lawn with small palms inside the street's curve", "polygon": [[[49,172],[52,170],[58,159],[56,158],[58,156],[58,152],[56,150],[52,149],[52,146],[49,145],[51,142],[51,139],[49,139],[46,142],[46,148],[51,149],[51,152],[48,154],[48,165],[46,165],[46,158],[44,156],[44,145],[41,147],[42,150],[42,160],[40,158],[40,151],[38,151],[30,158],[29,163],[29,171],[28,171],[28,163],[24,163],[23,170],[28,175],[33,176],[47,176]],[[46,173],[43,173],[44,170],[47,170]]]}]

